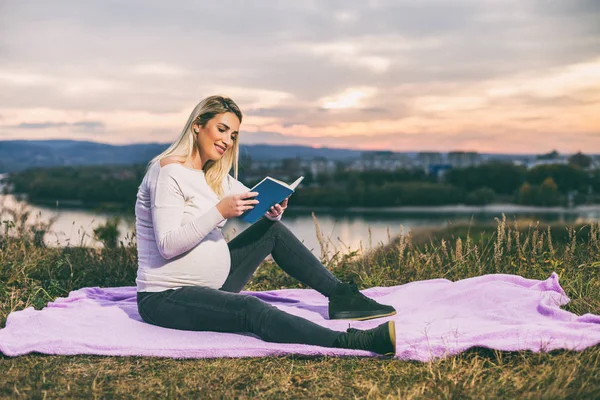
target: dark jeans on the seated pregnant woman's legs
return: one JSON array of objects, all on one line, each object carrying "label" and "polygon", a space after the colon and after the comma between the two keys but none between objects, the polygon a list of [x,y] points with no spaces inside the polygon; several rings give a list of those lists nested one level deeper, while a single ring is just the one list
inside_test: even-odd
[{"label": "dark jeans on the seated pregnant woman's legs", "polygon": [[340,283],[283,223],[263,217],[228,246],[231,270],[220,289],[185,286],[138,292],[144,321],[173,329],[250,332],[268,342],[333,347],[341,332],[239,293],[269,254],[285,272],[324,296],[329,297]]}]

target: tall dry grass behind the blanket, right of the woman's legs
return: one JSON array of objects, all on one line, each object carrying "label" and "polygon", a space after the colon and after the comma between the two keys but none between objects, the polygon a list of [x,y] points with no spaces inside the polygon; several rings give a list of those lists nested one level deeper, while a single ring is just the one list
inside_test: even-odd
[{"label": "tall dry grass behind the blanket, right of the woman's legs", "polygon": [[[313,219],[320,231],[316,217]],[[542,225],[509,222],[459,225],[439,231],[416,230],[389,243],[332,256],[330,239],[317,234],[321,261],[342,278],[354,278],[363,287],[392,286],[417,280],[465,279],[484,274],[516,274],[546,279],[557,272],[561,285],[573,297],[574,312],[600,311],[600,223]],[[369,240],[370,242],[370,240]]]}]

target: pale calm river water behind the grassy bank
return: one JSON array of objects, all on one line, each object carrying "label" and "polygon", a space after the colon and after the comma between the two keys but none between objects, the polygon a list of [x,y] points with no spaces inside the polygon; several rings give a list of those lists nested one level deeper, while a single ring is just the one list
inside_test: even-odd
[{"label": "pale calm river water behind the grassy bank", "polygon": [[[93,229],[106,223],[111,216],[120,216],[120,240],[125,244],[135,231],[135,216],[133,214],[98,213],[85,209],[52,208],[31,205],[26,202],[18,203],[13,195],[0,195],[0,204],[4,201],[10,207],[16,204],[27,205],[31,214],[29,221],[41,218],[47,221],[56,217],[52,226],[54,232],[47,233],[44,241],[48,246],[66,246],[83,244],[85,246],[101,247],[94,240]],[[1,207],[0,207],[1,209]],[[380,243],[388,243],[388,234],[393,238],[401,232],[414,228],[441,228],[449,223],[468,224],[473,218],[475,222],[493,222],[494,217],[501,218],[506,213],[509,220],[515,215],[518,220],[558,223],[589,223],[600,221],[600,206],[579,208],[576,210],[543,209],[532,207],[515,207],[511,205],[481,208],[469,207],[437,207],[423,209],[419,207],[398,209],[382,208],[378,211],[361,212],[332,212],[331,210],[313,209],[323,237],[329,243],[328,254],[336,251],[346,253],[350,250],[367,249]],[[427,211],[425,211],[427,210]],[[477,211],[477,212],[475,212]],[[0,221],[11,219],[10,216],[0,215]],[[282,222],[315,254],[321,256],[321,246],[317,240],[316,226],[310,209],[294,209],[290,206],[284,213]],[[237,219],[230,219],[223,228],[228,240],[233,239],[246,229],[249,224]],[[369,228],[371,243],[369,243]]]}]

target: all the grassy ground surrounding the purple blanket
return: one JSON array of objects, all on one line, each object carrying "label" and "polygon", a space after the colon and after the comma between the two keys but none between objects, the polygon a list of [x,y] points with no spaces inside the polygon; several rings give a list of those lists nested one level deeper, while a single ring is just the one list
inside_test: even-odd
[{"label": "all the grassy ground surrounding the purple blanket", "polygon": [[[135,238],[115,249],[45,248],[35,229],[0,210],[0,327],[85,286],[133,286]],[[21,221],[17,215],[17,221]],[[285,221],[284,221],[285,222]],[[552,271],[577,314],[600,314],[600,224],[539,226],[496,220],[390,238],[321,261],[360,287],[488,273],[546,279]],[[38,235],[39,238],[39,235]],[[37,243],[37,245],[36,245]],[[361,246],[362,247],[362,246]],[[248,289],[302,287],[265,261]],[[583,352],[472,349],[428,363],[300,356],[173,360],[147,357],[0,355],[0,397],[23,398],[598,398],[600,346]]]}]

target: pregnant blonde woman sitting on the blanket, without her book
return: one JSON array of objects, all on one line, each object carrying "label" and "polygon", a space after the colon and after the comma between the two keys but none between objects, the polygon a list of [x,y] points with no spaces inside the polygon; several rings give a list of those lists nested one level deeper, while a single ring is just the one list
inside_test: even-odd
[{"label": "pregnant blonde woman sitting on the blanket, without her book", "polygon": [[[280,222],[288,199],[226,242],[229,218],[258,203],[237,180],[242,113],[210,96],[192,111],[179,138],[148,164],[135,206],[137,304],[144,321],[173,329],[251,332],[269,342],[394,354],[395,327],[327,329],[239,292],[264,258],[329,298],[330,319],[396,313],[335,278]],[[234,167],[234,177],[229,175]]]}]

